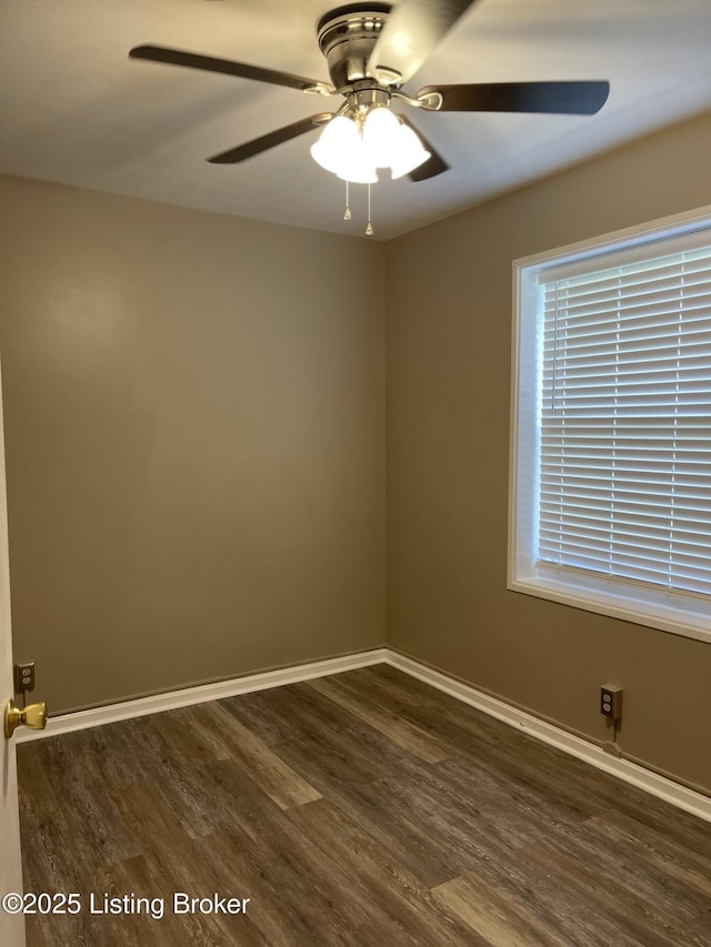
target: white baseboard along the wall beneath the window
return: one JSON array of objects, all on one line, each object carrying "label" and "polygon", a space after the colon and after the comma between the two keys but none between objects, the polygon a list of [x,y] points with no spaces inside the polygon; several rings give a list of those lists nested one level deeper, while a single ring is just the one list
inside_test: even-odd
[{"label": "white baseboard along the wall beneath the window", "polygon": [[504,704],[503,701],[498,701],[495,697],[482,694],[481,691],[477,691],[468,684],[461,684],[459,681],[454,681],[439,671],[432,671],[432,668],[412,661],[410,657],[397,654],[389,648],[387,649],[385,662],[399,671],[403,671],[405,674],[410,674],[412,677],[417,677],[425,684],[443,691],[451,697],[455,697],[458,701],[462,701],[464,704],[477,707],[477,709],[483,711],[484,714],[489,714],[504,724],[509,724],[509,726],[522,729],[524,733],[543,743],[548,743],[558,749],[562,749],[564,753],[569,753],[571,756],[583,759],[597,769],[603,769],[605,773],[610,773],[610,775],[617,776],[625,783],[631,783],[633,786],[645,793],[650,793],[652,796],[658,796],[660,799],[671,803],[672,806],[677,806],[680,809],[692,813],[694,816],[699,816],[699,818],[711,822],[711,798],[701,793],[688,789],[680,783],[674,783],[672,779],[660,776],[658,773],[639,766],[637,763],[631,763],[629,759],[610,756],[602,747],[595,746],[595,744],[589,743],[587,739],[567,733],[560,727],[553,726],[553,724],[545,723],[545,721],[540,721],[538,717],[519,711],[510,704]]}]

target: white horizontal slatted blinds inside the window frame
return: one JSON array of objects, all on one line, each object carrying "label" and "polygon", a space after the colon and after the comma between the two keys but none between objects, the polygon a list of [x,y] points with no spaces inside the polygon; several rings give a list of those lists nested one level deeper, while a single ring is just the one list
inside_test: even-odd
[{"label": "white horizontal slatted blinds inside the window frame", "polygon": [[711,245],[550,275],[539,565],[711,595]]}]

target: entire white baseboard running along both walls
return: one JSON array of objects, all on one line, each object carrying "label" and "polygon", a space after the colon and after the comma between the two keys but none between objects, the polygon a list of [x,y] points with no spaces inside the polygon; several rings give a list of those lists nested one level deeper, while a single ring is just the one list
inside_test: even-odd
[{"label": "entire white baseboard running along both walls", "polygon": [[238,694],[249,694],[253,691],[264,691],[269,687],[281,687],[284,684],[297,684],[300,681],[312,681],[316,677],[324,677],[330,674],[341,674],[344,671],[354,671],[359,667],[368,667],[371,664],[387,663],[443,691],[464,704],[470,704],[484,714],[489,714],[509,726],[524,731],[530,736],[555,746],[564,753],[583,759],[598,769],[603,769],[612,776],[625,783],[631,783],[639,789],[658,796],[673,806],[685,809],[707,822],[711,822],[711,798],[695,793],[674,783],[665,776],[645,769],[629,759],[619,759],[610,756],[601,747],[589,743],[581,737],[570,734],[560,727],[541,721],[490,697],[475,687],[462,684],[454,678],[433,671],[410,657],[390,651],[390,648],[373,648],[360,654],[347,655],[346,657],[333,657],[326,661],[317,661],[311,664],[300,664],[294,667],[284,667],[280,671],[267,671],[262,674],[248,674],[243,677],[233,677],[229,681],[219,681],[216,684],[202,684],[198,687],[184,687],[180,691],[171,691],[166,694],[154,694],[150,697],[138,697],[134,701],[123,701],[120,704],[110,704],[106,707],[96,707],[89,711],[77,711],[71,714],[60,714],[50,717],[47,729],[31,731],[27,728],[17,732],[17,743],[27,743],[32,739],[41,739],[48,736],[72,733],[73,731],[87,729],[89,727],[112,724],[117,721],[128,721],[132,717],[142,717],[147,714],[157,714],[161,711],[172,711],[176,707],[188,707],[191,704],[202,704],[206,701],[220,701],[223,697],[233,697]]}]

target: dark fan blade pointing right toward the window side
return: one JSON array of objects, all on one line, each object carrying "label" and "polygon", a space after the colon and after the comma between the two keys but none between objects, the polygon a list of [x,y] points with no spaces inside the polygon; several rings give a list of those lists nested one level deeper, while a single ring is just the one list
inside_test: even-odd
[{"label": "dark fan blade pointing right toward the window side", "polygon": [[425,85],[418,99],[441,92],[442,112],[550,112],[594,115],[610,94],[609,82],[484,82]]}]

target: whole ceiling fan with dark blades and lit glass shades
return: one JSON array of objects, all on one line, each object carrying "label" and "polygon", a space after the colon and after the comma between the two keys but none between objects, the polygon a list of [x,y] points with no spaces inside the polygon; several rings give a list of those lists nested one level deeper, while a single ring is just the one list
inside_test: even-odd
[{"label": "whole ceiling fan with dark blades and lit glass shades", "polygon": [[402,87],[473,2],[401,0],[394,8],[350,3],[331,10],[317,27],[331,82],[160,46],[138,46],[129,56],[344,100],[336,112],[309,115],[214,154],[208,159],[212,164],[239,163],[323,127],[311,153],[347,182],[374,183],[377,168],[390,168],[393,178],[408,174],[413,181],[424,181],[447,171],[449,164],[408,117],[391,111],[395,102],[428,112],[591,115],[602,108],[610,91],[607,81],[489,82],[425,85],[408,95]]}]

